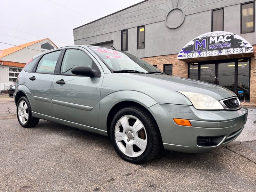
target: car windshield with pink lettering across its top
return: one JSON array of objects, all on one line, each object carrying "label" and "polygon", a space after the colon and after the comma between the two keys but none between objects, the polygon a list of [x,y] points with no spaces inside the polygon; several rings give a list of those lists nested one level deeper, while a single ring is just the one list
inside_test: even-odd
[{"label": "car windshield with pink lettering across its top", "polygon": [[156,73],[160,72],[154,66],[148,64],[146,61],[135,57],[126,52],[120,52],[113,49],[102,48],[102,47],[89,47],[95,52],[102,61],[112,70],[112,72],[119,71],[139,71],[142,73]]}]

